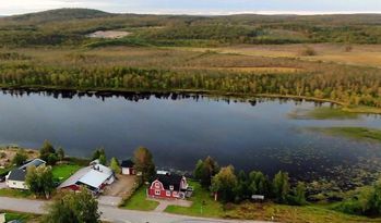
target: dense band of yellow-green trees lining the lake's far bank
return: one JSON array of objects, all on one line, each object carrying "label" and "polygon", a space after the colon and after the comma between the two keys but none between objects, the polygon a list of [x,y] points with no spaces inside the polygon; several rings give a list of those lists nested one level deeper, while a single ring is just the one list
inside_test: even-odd
[{"label": "dense band of yellow-green trees lining the lake's far bank", "polygon": [[251,74],[175,72],[135,67],[0,65],[2,86],[51,86],[74,89],[207,90],[223,94],[271,94],[332,99],[381,108],[381,77],[376,72]]}]

